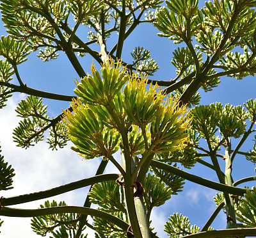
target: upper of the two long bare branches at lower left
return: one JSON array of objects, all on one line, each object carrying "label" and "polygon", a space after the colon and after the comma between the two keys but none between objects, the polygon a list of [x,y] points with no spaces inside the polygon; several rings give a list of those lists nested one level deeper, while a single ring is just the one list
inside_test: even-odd
[{"label": "upper of the two long bare branches at lower left", "polygon": [[13,196],[10,198],[3,198],[1,205],[8,206],[8,205],[15,205],[20,203],[31,202],[35,200],[40,200],[44,198],[49,198],[51,196],[56,196],[62,193],[67,193],[69,191],[73,191],[75,189],[79,189],[81,187],[86,187],[92,184],[96,184],[98,182],[104,182],[109,180],[116,180],[120,174],[118,173],[107,173],[104,175],[96,175],[94,177],[90,177],[88,179],[78,180],[76,182],[71,182],[70,184],[65,184],[60,187],[54,187],[52,189],[48,189],[45,191],[40,191],[37,193],[29,193],[23,194],[20,196]]}]

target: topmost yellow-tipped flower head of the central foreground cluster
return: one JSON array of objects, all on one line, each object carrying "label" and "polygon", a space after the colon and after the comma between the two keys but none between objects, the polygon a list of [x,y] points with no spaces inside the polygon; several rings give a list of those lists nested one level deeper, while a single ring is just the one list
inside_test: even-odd
[{"label": "topmost yellow-tipped flower head of the central foreground cluster", "polygon": [[128,80],[126,68],[121,61],[114,63],[113,59],[109,59],[102,64],[101,75],[94,64],[91,69],[92,75],[88,74],[81,79],[74,92],[84,104],[106,105]]}]

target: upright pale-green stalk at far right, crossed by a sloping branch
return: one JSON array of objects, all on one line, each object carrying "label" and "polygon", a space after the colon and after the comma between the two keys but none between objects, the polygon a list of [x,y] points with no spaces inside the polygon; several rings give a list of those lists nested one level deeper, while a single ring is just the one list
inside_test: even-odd
[{"label": "upright pale-green stalk at far right, crossed by a sloping branch", "polygon": [[[227,148],[225,152],[225,183],[228,186],[232,186],[233,184],[233,179],[232,179],[232,161],[231,161],[231,143],[230,143],[230,138],[228,138],[227,141]],[[237,228],[236,226],[236,210],[234,207],[234,202],[233,198],[230,196],[230,194],[225,193],[225,207],[226,207],[226,212],[227,212],[227,229],[230,228]]]}]

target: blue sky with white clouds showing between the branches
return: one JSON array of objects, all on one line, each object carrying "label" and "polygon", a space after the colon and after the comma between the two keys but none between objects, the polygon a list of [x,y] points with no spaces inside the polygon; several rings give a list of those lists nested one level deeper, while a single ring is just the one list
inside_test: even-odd
[{"label": "blue sky with white clouds showing between the branches", "polygon": [[[170,63],[172,52],[176,47],[182,47],[184,45],[174,45],[168,38],[157,36],[157,32],[157,29],[149,24],[140,24],[138,29],[125,41],[122,58],[125,62],[130,63],[130,52],[132,52],[134,47],[140,46],[149,49],[152,58],[156,59],[160,67],[154,77],[150,76],[149,78],[169,80],[176,75],[175,68]],[[6,35],[2,26],[0,33],[1,35]],[[79,34],[86,40],[87,31],[85,28],[81,28]],[[113,38],[113,40],[109,39],[107,41],[108,49],[111,49],[113,46],[113,42],[115,42],[117,38],[116,33],[113,33]],[[97,49],[97,46],[95,49]],[[97,50],[99,51],[99,49]],[[90,72],[92,58],[86,56],[79,60],[85,68],[85,72]],[[19,65],[18,69],[24,83],[31,88],[67,95],[74,94],[73,90],[75,84],[73,80],[78,77],[78,75],[68,62],[65,54],[61,54],[60,57],[54,61],[42,63],[42,61],[35,56],[35,53],[31,53],[28,57],[28,61]],[[13,79],[12,83],[17,83],[16,79]],[[212,102],[221,102],[223,104],[230,103],[234,106],[243,104],[248,99],[255,99],[255,88],[255,77],[249,76],[240,81],[234,78],[222,77],[220,85],[218,88],[214,88],[213,91],[204,93],[204,91],[200,90],[202,97],[201,104],[211,104]],[[28,150],[15,147],[15,143],[12,142],[12,130],[18,125],[19,118],[15,117],[16,113],[14,109],[15,105],[25,97],[26,95],[24,94],[15,93],[12,99],[9,100],[8,106],[0,111],[1,154],[4,155],[4,159],[8,161],[8,163],[12,164],[16,173],[13,184],[15,188],[4,192],[1,196],[7,197],[31,193],[92,176],[95,170],[97,170],[99,159],[81,161],[76,153],[69,149],[70,144],[63,150],[58,150],[57,152],[48,150],[47,144],[44,141]],[[65,109],[68,106],[68,102],[54,102],[54,100],[48,99],[44,100],[44,103],[49,105],[48,115],[50,117],[57,116],[61,113],[61,108]],[[250,138],[246,146],[244,146],[244,151],[251,149],[252,144],[253,141],[252,138]],[[220,163],[223,168],[224,161]],[[234,180],[255,175],[254,167],[254,164],[246,161],[243,156],[237,156],[232,171]],[[109,173],[114,170],[115,168],[111,165],[107,168],[107,172]],[[195,168],[192,168],[189,172],[217,181],[216,175],[200,164],[196,164]],[[248,186],[253,186],[253,183],[250,183]],[[168,219],[168,216],[173,214],[173,212],[181,212],[184,216],[189,217],[191,225],[196,224],[202,227],[215,209],[215,204],[212,199],[212,196],[215,194],[216,191],[212,189],[186,182],[183,193],[180,193],[178,196],[173,196],[163,207],[153,210],[152,223],[159,237],[167,237],[164,236],[162,231],[163,225]],[[50,200],[65,200],[68,205],[83,205],[85,197],[86,189],[79,189],[72,193],[50,198]],[[36,201],[14,207],[36,208],[43,202],[44,201]],[[215,221],[212,226],[214,228],[225,228],[225,214],[220,212],[217,219],[218,221]],[[0,228],[3,237],[11,238],[19,234],[22,234],[22,237],[29,238],[36,236],[29,228],[29,219],[3,218],[3,220],[4,223]],[[13,229],[13,224],[15,224],[15,229]]]}]

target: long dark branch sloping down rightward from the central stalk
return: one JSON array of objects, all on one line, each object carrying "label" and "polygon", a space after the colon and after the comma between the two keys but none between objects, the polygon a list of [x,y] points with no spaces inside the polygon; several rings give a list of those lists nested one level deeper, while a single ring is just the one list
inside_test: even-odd
[{"label": "long dark branch sloping down rightward from the central stalk", "polygon": [[164,164],[156,160],[152,160],[151,166],[160,168],[161,170],[169,171],[171,173],[174,173],[175,175],[179,175],[183,179],[187,179],[191,182],[195,182],[196,184],[200,184],[205,187],[209,187],[211,189],[216,189],[218,191],[222,192],[227,192],[230,194],[235,194],[239,196],[243,196],[244,193],[246,193],[247,189],[243,189],[241,187],[232,187],[232,186],[227,186],[225,184],[220,184],[218,182],[214,182],[212,180],[204,179],[202,177],[198,177],[196,175],[193,175],[191,173],[188,173],[186,171],[180,170],[178,168],[175,168],[169,164]]}]

